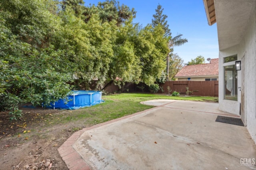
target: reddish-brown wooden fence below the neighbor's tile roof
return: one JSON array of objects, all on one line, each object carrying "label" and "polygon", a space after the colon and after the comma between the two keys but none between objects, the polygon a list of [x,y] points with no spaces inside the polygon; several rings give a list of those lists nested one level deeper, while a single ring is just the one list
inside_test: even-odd
[{"label": "reddish-brown wooden fence below the neighbor's tile roof", "polygon": [[190,95],[218,97],[218,85],[218,81],[168,81],[160,86],[164,90],[163,93],[168,93],[167,87],[170,86],[172,92],[176,91],[185,95],[186,87],[188,87],[189,91],[193,91]]}]

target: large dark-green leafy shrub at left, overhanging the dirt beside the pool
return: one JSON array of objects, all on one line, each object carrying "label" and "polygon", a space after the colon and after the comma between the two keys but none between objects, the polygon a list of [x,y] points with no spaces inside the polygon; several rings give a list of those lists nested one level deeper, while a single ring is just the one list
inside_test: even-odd
[{"label": "large dark-green leafy shrub at left, overhanging the dirt beside the pool", "polygon": [[21,42],[0,23],[0,111],[9,111],[10,119],[22,117],[18,107],[24,103],[46,105],[66,98],[72,86],[65,51],[53,46],[36,49]]}]

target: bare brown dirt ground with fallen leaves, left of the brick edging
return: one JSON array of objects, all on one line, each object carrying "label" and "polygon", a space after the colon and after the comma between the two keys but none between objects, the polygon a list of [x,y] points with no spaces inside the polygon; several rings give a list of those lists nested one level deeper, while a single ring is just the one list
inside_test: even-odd
[{"label": "bare brown dirt ground with fallen leaves, left of the brick edging", "polygon": [[71,122],[49,124],[52,114],[63,114],[65,110],[21,109],[24,114],[18,121],[10,121],[8,113],[0,113],[0,170],[68,170],[57,149],[85,126]]}]

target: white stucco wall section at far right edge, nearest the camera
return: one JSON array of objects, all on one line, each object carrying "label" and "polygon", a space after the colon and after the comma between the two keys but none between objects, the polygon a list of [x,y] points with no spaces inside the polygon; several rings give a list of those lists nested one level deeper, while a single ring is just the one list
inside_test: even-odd
[{"label": "white stucco wall section at far right edge, nearest the camera", "polygon": [[245,53],[246,126],[256,142],[256,3],[244,39],[240,43],[239,53]]}]

